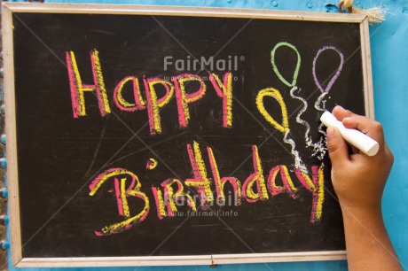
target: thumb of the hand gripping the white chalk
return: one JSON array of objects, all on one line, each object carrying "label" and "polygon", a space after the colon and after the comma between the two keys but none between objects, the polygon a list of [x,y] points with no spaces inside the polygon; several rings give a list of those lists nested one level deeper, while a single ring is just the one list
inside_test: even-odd
[{"label": "thumb of the hand gripping the white chalk", "polygon": [[349,160],[347,143],[342,138],[340,131],[335,127],[327,128],[327,150],[329,151],[332,165],[336,166]]}]

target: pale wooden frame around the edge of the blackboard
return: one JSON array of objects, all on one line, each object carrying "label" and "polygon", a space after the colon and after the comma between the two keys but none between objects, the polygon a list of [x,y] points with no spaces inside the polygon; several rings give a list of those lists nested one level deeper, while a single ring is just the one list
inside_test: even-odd
[{"label": "pale wooden frame around the edge of the blackboard", "polygon": [[163,7],[137,5],[94,5],[94,4],[16,4],[3,3],[4,36],[4,92],[6,104],[6,134],[8,159],[9,210],[11,233],[12,265],[16,267],[125,267],[125,266],[173,266],[173,265],[212,265],[226,263],[255,263],[305,260],[346,259],[346,252],[283,252],[255,254],[223,254],[198,256],[151,256],[151,257],[88,257],[88,258],[22,258],[20,236],[20,205],[18,186],[18,164],[16,143],[14,67],[12,42],[12,13],[110,13],[135,15],[184,15],[197,17],[224,17],[250,19],[282,19],[358,23],[360,25],[365,114],[374,118],[373,79],[371,68],[370,39],[368,19],[365,15],[318,12],[277,12],[263,10]]}]

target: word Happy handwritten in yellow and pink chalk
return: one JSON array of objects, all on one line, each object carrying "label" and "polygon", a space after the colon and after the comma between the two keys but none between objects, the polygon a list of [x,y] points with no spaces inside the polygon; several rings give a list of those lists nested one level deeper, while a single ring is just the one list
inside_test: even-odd
[{"label": "word Happy handwritten in yellow and pink chalk", "polygon": [[[101,116],[106,116],[111,112],[109,100],[106,94],[104,76],[100,64],[98,50],[90,52],[90,66],[93,74],[93,85],[82,84],[81,74],[76,63],[75,53],[66,53],[67,70],[71,89],[71,100],[74,118],[87,115],[85,106],[85,92],[95,92],[98,98],[98,107]],[[223,76],[209,73],[209,81],[218,97],[223,100],[223,127],[232,126],[232,74],[225,73]],[[223,80],[224,78],[224,80]],[[140,81],[136,76],[127,76],[114,88],[114,104],[122,111],[135,112],[146,110],[149,119],[150,134],[161,134],[161,114],[160,110],[169,104],[172,97],[176,97],[178,123],[180,128],[188,126],[190,120],[189,104],[192,104],[205,96],[207,91],[206,82],[195,74],[180,74],[172,77],[172,81],[165,81],[158,77],[145,78],[141,80],[145,87],[145,98],[142,97]],[[186,91],[189,82],[197,81],[200,87],[195,92]],[[133,89],[133,101],[128,101],[123,97],[123,88],[129,84]],[[165,94],[158,97],[157,88],[164,88]]]}]

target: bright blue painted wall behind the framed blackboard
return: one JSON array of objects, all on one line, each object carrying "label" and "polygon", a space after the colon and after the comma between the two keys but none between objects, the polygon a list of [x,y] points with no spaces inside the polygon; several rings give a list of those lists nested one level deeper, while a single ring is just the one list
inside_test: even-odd
[{"label": "bright blue painted wall behind the framed blackboard", "polygon": [[[12,2],[12,1],[10,1]],[[335,12],[326,4],[337,0],[46,0],[47,3],[75,4],[158,4],[184,6],[210,6],[249,9]],[[376,119],[384,126],[387,142],[394,152],[395,164],[383,197],[383,216],[389,236],[408,270],[408,0],[355,0],[357,7],[384,4],[387,20],[370,27],[373,57],[373,82]],[[20,270],[10,267],[10,270]],[[59,270],[64,268],[27,268],[24,270]],[[91,271],[96,268],[69,270]],[[346,261],[320,261],[301,263],[268,263],[250,265],[224,265],[210,267],[126,267],[98,268],[101,271],[173,271],[173,270],[347,270]]]}]

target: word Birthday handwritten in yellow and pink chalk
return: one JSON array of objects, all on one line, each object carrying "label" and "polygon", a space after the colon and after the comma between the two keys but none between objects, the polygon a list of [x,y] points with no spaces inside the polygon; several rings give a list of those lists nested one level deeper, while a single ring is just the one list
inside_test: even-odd
[{"label": "word Birthday handwritten in yellow and pink chalk", "polygon": [[[177,216],[177,201],[184,201],[192,212],[197,212],[199,205],[192,198],[189,191],[193,190],[200,197],[200,207],[206,210],[208,205],[217,201],[218,205],[225,203],[225,184],[229,183],[236,197],[234,202],[241,205],[245,199],[252,204],[277,197],[280,194],[288,194],[296,199],[299,188],[303,187],[312,194],[310,222],[319,221],[322,215],[322,207],[325,199],[324,165],[311,166],[311,174],[302,172],[300,168],[293,168],[294,176],[300,186],[295,186],[293,174],[285,165],[273,166],[269,173],[264,173],[262,160],[256,145],[252,146],[253,170],[247,175],[244,182],[234,176],[222,176],[218,169],[218,161],[211,147],[206,147],[209,169],[204,161],[200,144],[193,142],[186,146],[190,164],[192,166],[192,178],[184,181],[177,178],[169,178],[161,182],[161,187],[152,186],[153,202],[157,217],[162,220],[166,217]],[[150,165],[151,159],[148,164]],[[278,180],[283,185],[278,184]],[[111,182],[105,184],[106,182]],[[129,184],[128,184],[129,183]],[[114,196],[118,208],[118,214],[122,221],[95,231],[97,236],[107,236],[120,233],[131,228],[135,223],[145,221],[153,208],[151,200],[143,191],[142,182],[137,174],[124,168],[111,168],[99,174],[90,183],[90,196],[94,196],[102,185],[113,186]],[[216,197],[213,193],[216,194]],[[130,213],[128,197],[138,197],[143,204],[139,205],[138,213]]]}]

